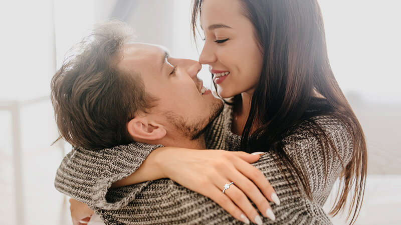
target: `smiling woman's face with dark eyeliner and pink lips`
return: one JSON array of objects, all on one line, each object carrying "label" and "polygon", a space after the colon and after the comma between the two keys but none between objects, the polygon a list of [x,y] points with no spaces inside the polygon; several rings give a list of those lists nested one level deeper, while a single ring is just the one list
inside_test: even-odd
[{"label": "smiling woman's face with dark eyeliner and pink lips", "polygon": [[199,62],[209,64],[221,97],[253,94],[262,69],[262,52],[240,0],[204,0],[200,25],[205,46]]}]

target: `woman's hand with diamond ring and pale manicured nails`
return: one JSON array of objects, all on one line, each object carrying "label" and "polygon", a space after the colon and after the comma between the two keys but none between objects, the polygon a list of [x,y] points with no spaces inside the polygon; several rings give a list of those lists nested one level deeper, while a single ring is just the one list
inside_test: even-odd
[{"label": "woman's hand with diamond ring and pale manicured nails", "polygon": [[[268,200],[276,204],[280,200],[263,173],[250,164],[259,160],[260,154],[177,147],[152,153],[163,177],[211,198],[235,218],[262,224],[249,197],[264,216],[275,219]],[[224,184],[231,182],[234,184],[223,193]]]}]

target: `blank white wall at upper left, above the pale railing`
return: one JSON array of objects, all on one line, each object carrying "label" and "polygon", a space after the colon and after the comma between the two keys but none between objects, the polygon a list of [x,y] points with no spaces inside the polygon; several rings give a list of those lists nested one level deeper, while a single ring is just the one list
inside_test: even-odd
[{"label": "blank white wall at upper left, above the pale railing", "polygon": [[46,94],[54,72],[52,0],[0,3],[0,99]]}]

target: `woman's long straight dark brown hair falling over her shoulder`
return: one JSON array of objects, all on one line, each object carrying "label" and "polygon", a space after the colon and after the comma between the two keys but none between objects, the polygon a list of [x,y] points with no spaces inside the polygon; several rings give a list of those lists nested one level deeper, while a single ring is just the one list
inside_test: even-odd
[{"label": "woman's long straight dark brown hair falling over her shoulder", "polygon": [[[316,115],[329,114],[343,121],[352,136],[352,158],[343,164],[340,185],[330,214],[344,209],[352,195],[348,217],[353,223],[360,210],[366,179],[367,152],[364,134],[351,106],[331,70],[326,48],[324,26],[316,0],[240,0],[243,14],[253,23],[255,36],[263,52],[262,72],[251,100],[249,117],[242,133],[242,149],[272,149],[299,176],[307,195],[311,188],[304,171],[283,149],[282,140],[293,128],[305,121],[325,144],[337,149],[322,127],[313,121]],[[203,0],[192,0],[192,32],[196,36]],[[196,39],[196,38],[195,38]],[[309,110],[315,92],[323,95],[326,107]],[[236,96],[238,98],[238,96]],[[253,133],[254,124],[262,124]],[[309,127],[310,127],[309,126]],[[250,145],[251,142],[254,144]],[[251,147],[249,147],[251,146]],[[324,152],[325,157],[331,152]],[[324,159],[326,161],[326,159]],[[341,160],[341,158],[340,158]],[[326,180],[327,168],[326,163]],[[354,190],[352,191],[352,187]]]}]

